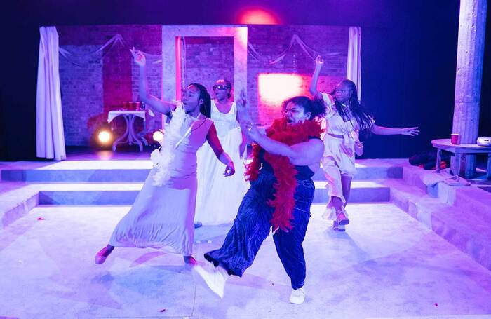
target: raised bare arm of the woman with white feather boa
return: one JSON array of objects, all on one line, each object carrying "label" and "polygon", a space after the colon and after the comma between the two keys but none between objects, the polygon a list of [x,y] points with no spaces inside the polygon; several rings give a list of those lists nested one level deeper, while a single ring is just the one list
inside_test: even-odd
[{"label": "raised bare arm of the woman with white feather boa", "polygon": [[135,59],[135,63],[140,67],[140,100],[144,102],[152,111],[160,112],[166,116],[169,116],[171,111],[175,109],[175,104],[173,102],[162,101],[158,97],[149,93],[147,83],[147,62],[145,56],[140,50],[135,50],[135,48],[131,48],[130,52]]}]

